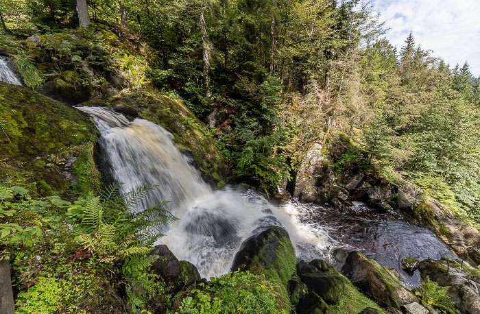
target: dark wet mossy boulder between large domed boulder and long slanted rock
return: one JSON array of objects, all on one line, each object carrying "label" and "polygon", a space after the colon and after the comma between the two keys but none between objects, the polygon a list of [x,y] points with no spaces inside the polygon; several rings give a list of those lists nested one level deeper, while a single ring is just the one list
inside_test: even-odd
[{"label": "dark wet mossy boulder between large domed boulder and long slanted rock", "polygon": [[297,273],[309,291],[317,293],[326,304],[339,304],[348,282],[333,266],[319,259],[308,264],[300,261],[297,265]]}]

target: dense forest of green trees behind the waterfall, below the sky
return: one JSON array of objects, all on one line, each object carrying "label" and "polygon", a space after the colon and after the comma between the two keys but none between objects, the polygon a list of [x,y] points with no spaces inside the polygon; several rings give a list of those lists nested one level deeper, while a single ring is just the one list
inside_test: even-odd
[{"label": "dense forest of green trees behind the waterfall, below the sky", "polygon": [[[1,0],[0,45],[9,36],[76,29],[82,1]],[[142,51],[150,84],[179,95],[210,123],[233,172],[252,173],[271,189],[320,141],[333,162],[363,156],[356,158],[361,167],[411,180],[479,221],[479,80],[467,62],[433,58],[412,33],[393,47],[368,3],[86,5],[88,28],[114,29]]]}]

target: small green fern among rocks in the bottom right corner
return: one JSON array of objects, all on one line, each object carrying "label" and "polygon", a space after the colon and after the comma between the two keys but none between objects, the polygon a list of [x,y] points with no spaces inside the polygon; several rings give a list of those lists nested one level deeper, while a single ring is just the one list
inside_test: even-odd
[{"label": "small green fern among rocks in the bottom right corner", "polygon": [[448,288],[450,287],[440,287],[437,282],[430,280],[427,276],[422,281],[422,285],[415,289],[415,294],[422,299],[422,302],[437,310],[445,311],[448,314],[457,314],[459,312],[455,309],[455,304],[446,294]]}]

